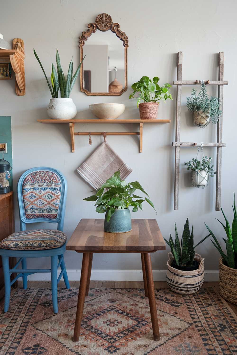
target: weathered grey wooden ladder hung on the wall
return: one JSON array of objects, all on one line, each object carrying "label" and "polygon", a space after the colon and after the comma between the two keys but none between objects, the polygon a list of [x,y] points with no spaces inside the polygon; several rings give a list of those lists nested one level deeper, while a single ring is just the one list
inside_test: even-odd
[{"label": "weathered grey wooden ladder hung on the wall", "polygon": [[[177,85],[176,89],[176,130],[175,140],[172,146],[175,147],[175,162],[174,162],[174,210],[179,209],[179,162],[180,162],[180,147],[200,147],[201,143],[198,142],[180,142],[180,129],[181,129],[181,93],[182,85],[201,85],[201,80],[182,80],[182,62],[183,52],[178,52],[177,62],[177,80],[174,81],[174,85]],[[219,52],[219,75],[218,80],[204,80],[205,85],[217,85],[218,86],[218,99],[220,110],[223,112],[223,85],[228,85],[228,81],[224,79],[224,53]],[[217,142],[203,143],[204,147],[216,147],[216,211],[221,209],[221,154],[222,147],[226,146],[226,143],[222,143],[222,113],[217,123]]]}]

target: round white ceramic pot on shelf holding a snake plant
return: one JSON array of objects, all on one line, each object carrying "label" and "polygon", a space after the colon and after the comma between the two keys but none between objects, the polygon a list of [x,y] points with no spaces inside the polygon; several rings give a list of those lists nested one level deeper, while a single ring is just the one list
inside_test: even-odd
[{"label": "round white ceramic pot on shelf holding a snake plant", "polygon": [[48,115],[52,119],[71,120],[76,116],[76,105],[70,98],[59,97],[50,99]]}]

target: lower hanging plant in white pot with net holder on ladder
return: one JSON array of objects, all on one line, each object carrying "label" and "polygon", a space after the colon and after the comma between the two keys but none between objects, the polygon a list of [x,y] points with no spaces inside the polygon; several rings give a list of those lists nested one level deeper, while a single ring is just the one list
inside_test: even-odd
[{"label": "lower hanging plant in white pot with net holder on ladder", "polygon": [[[198,147],[198,153],[196,158],[185,162],[184,165],[187,165],[187,170],[191,170],[192,173],[192,185],[199,187],[200,189],[205,189],[208,186],[209,176],[213,177],[214,165],[211,165],[211,157],[207,157],[203,154],[203,143],[201,143],[201,152]],[[202,153],[201,161],[198,160],[198,154]],[[215,173],[214,173],[215,174]]]}]

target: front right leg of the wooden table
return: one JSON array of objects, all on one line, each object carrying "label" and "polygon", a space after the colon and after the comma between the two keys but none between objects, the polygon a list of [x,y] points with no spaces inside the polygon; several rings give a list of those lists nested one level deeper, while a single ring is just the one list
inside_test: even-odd
[{"label": "front right leg of the wooden table", "polygon": [[145,269],[146,269],[147,291],[148,291],[148,298],[149,298],[149,305],[150,305],[150,312],[151,312],[153,337],[155,342],[158,342],[158,340],[160,340],[160,331],[159,331],[159,324],[157,318],[156,299],[155,299],[150,253],[144,253],[144,261],[145,261]]}]

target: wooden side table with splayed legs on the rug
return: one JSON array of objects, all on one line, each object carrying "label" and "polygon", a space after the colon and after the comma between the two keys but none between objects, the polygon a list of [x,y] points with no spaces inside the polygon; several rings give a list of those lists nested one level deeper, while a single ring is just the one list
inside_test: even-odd
[{"label": "wooden side table with splayed legs on the rug", "polygon": [[66,246],[67,250],[83,253],[73,341],[78,342],[80,336],[85,296],[88,296],[90,285],[93,253],[141,253],[145,296],[149,298],[153,337],[158,341],[160,332],[150,253],[166,249],[160,228],[155,219],[132,219],[132,230],[126,233],[105,232],[103,225],[103,219],[81,219]]}]

